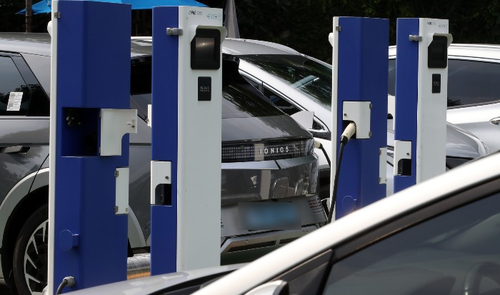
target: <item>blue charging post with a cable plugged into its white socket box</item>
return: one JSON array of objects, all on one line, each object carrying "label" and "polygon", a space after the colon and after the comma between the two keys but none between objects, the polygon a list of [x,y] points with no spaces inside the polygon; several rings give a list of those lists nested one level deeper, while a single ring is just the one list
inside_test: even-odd
[{"label": "blue charging post with a cable plugged into its white socket box", "polygon": [[[354,121],[344,149],[336,219],[386,196],[387,48],[389,20],[334,17],[331,179],[340,135]],[[333,184],[333,181],[331,181]]]}]

